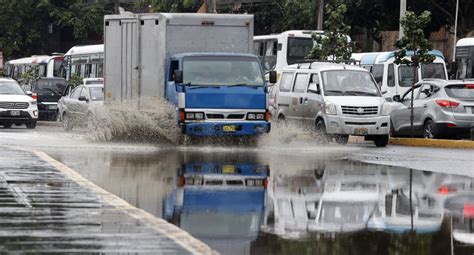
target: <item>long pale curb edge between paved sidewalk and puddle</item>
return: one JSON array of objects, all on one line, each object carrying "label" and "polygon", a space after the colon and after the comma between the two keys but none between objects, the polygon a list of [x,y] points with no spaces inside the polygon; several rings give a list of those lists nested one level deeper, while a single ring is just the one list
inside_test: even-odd
[{"label": "long pale curb edge between paved sidewalk and puddle", "polygon": [[63,163],[53,159],[42,151],[32,151],[42,160],[49,163],[51,166],[56,168],[58,171],[63,173],[65,176],[76,182],[78,185],[94,192],[101,199],[109,203],[111,206],[122,210],[125,214],[129,215],[136,220],[143,222],[144,224],[152,227],[163,236],[173,240],[182,248],[188,250],[192,254],[218,254],[218,252],[212,250],[207,244],[191,236],[188,232],[178,228],[177,226],[155,217],[154,215],[130,205],[122,198],[102,189],[95,185],[91,181],[78,174],[73,169],[64,165]]}]

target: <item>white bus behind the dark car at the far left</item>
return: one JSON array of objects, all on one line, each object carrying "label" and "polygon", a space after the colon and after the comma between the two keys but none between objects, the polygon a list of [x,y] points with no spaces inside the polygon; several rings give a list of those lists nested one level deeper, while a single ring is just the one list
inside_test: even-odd
[{"label": "white bus behind the dark car at the far left", "polygon": [[5,63],[5,74],[19,80],[25,72],[34,70],[39,77],[63,77],[61,70],[63,61],[64,56],[59,53],[54,53],[53,56],[34,55],[13,59]]}]

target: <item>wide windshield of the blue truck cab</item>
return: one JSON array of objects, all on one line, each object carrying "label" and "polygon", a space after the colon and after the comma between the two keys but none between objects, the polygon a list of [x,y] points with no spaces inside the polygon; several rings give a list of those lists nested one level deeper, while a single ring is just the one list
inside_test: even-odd
[{"label": "wide windshield of the blue truck cab", "polygon": [[186,57],[183,80],[185,84],[206,86],[264,85],[260,64],[251,57]]}]

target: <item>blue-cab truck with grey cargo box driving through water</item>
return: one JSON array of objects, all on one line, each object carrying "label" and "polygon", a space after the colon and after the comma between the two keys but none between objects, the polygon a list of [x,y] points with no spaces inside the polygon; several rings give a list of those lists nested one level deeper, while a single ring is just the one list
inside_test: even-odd
[{"label": "blue-cab truck with grey cargo box driving through water", "polygon": [[105,101],[165,99],[190,136],[270,131],[268,83],[253,16],[120,14],[104,19]]}]

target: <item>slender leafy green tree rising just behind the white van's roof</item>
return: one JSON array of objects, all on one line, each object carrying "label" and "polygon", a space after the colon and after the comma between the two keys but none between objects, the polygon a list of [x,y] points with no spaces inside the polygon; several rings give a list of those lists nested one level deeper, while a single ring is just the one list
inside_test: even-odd
[{"label": "slender leafy green tree rising just behind the white van's roof", "polygon": [[347,6],[341,1],[332,1],[325,6],[324,34],[314,34],[317,42],[308,58],[327,60],[348,60],[351,57],[352,46],[347,40],[351,27],[346,25],[344,17]]}]

